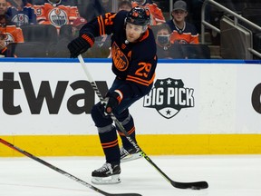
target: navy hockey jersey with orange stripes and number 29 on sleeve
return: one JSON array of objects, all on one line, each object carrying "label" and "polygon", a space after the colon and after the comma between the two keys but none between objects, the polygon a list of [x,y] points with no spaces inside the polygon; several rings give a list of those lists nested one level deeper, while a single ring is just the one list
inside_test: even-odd
[{"label": "navy hockey jersey with orange stripes and number 29 on sleeve", "polygon": [[[136,43],[126,42],[125,18],[128,12],[107,13],[82,26],[80,34],[101,36],[111,34],[112,72],[128,86],[121,92],[147,94],[150,92],[157,66],[158,57],[154,35],[150,28],[141,35]],[[130,91],[131,88],[131,91]],[[131,95],[131,94],[128,94]]]}]

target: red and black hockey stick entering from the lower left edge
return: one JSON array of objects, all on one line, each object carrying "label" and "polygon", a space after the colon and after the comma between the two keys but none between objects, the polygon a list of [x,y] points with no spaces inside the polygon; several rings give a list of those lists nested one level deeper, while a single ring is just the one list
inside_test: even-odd
[{"label": "red and black hockey stick entering from the lower left edge", "polygon": [[3,140],[3,139],[1,139],[1,138],[0,138],[0,142],[2,142],[3,144],[5,144],[5,145],[8,146],[9,148],[13,149],[14,151],[20,152],[20,153],[24,154],[25,156],[27,156],[27,157],[33,159],[34,161],[40,162],[40,163],[42,163],[43,165],[45,165],[45,166],[51,168],[52,170],[57,171],[57,172],[63,174],[64,176],[67,176],[68,178],[72,179],[73,181],[77,181],[77,182],[81,183],[82,185],[84,185],[84,186],[86,186],[86,187],[92,189],[93,191],[97,191],[97,192],[101,193],[102,195],[105,195],[105,196],[141,196],[141,194],[138,194],[138,193],[117,193],[117,194],[113,194],[113,193],[109,193],[109,192],[106,192],[106,191],[102,191],[102,190],[100,190],[100,189],[98,189],[98,188],[92,186],[92,185],[89,184],[88,182],[82,181],[81,179],[75,177],[73,174],[70,174],[70,173],[68,173],[68,172],[66,172],[66,171],[63,171],[63,170],[61,170],[61,169],[55,167],[54,165],[50,164],[49,162],[45,162],[45,161],[43,161],[42,159],[40,159],[40,158],[34,156],[33,154],[31,154],[31,153],[29,153],[29,152],[26,152],[26,151],[24,151],[24,150],[22,150],[22,149],[20,149],[20,148],[18,148],[18,147],[16,147],[16,146],[14,146],[14,144],[12,144],[12,143],[10,143],[10,142],[7,142],[7,141],[5,141],[5,140]]}]

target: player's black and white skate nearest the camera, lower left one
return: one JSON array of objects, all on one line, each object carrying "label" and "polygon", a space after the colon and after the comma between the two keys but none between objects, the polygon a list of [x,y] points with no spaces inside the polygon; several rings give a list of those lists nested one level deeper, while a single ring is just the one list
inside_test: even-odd
[{"label": "player's black and white skate nearest the camera, lower left one", "polygon": [[94,184],[114,184],[120,183],[120,164],[104,163],[101,168],[92,171],[92,183]]}]

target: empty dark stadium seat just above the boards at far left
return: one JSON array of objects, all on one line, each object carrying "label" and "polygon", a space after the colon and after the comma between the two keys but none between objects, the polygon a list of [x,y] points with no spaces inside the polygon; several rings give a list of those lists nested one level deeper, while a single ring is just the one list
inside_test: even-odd
[{"label": "empty dark stadium seat just above the boards at far left", "polygon": [[43,43],[10,43],[7,45],[7,56],[17,57],[46,57],[46,50]]}]

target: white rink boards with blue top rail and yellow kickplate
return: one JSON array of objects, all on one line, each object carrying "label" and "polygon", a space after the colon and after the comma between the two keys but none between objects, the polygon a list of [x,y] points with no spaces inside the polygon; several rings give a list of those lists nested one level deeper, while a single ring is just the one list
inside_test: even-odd
[{"label": "white rink boards with blue top rail and yellow kickplate", "polygon": [[[87,60],[106,92],[107,59]],[[98,98],[76,59],[0,62],[0,136],[44,156],[102,155],[90,111]],[[160,61],[154,87],[131,106],[148,154],[261,153],[258,61]],[[11,90],[10,90],[11,89]],[[0,146],[0,156],[17,156]]]}]

